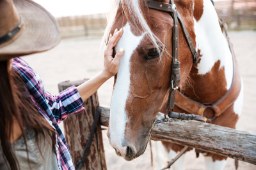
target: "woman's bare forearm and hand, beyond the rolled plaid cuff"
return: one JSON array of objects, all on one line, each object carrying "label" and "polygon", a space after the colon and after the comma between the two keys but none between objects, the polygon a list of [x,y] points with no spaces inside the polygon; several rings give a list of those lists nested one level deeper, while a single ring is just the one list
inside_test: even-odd
[{"label": "woman's bare forearm and hand, beyond the rolled plaid cuff", "polygon": [[105,81],[112,76],[115,76],[117,73],[119,60],[124,54],[124,48],[120,48],[120,50],[116,52],[115,58],[112,56],[113,48],[122,36],[123,32],[123,29],[120,29],[119,31],[116,29],[113,36],[109,36],[108,45],[106,46],[106,50],[104,50],[104,68],[102,71],[77,87],[79,95],[83,101],[86,101],[86,99],[92,96],[92,94],[94,94]]}]

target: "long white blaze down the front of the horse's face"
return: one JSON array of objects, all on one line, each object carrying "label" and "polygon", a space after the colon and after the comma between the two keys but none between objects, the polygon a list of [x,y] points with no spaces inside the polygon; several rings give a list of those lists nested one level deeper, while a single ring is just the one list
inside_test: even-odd
[{"label": "long white blaze down the front of the horse's face", "polygon": [[126,154],[126,147],[122,146],[124,140],[125,124],[128,121],[125,104],[129,95],[130,81],[130,59],[134,50],[140,44],[141,36],[134,36],[131,32],[129,23],[123,27],[124,34],[115,46],[116,52],[123,47],[124,55],[120,59],[116,83],[111,99],[111,110],[109,119],[109,143],[122,155]]}]

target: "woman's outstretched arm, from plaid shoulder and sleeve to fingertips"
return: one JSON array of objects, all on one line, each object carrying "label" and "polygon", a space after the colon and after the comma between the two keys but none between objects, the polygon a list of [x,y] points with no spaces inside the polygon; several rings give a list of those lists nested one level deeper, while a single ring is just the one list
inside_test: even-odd
[{"label": "woman's outstretched arm, from plaid shoulder and sleeve to fingertips", "polygon": [[[15,58],[12,66],[24,80],[31,99],[38,105],[38,108],[44,110],[44,112],[51,110],[56,122],[60,123],[68,115],[83,111],[83,101],[86,101],[106,80],[117,73],[119,60],[124,53],[124,49],[120,49],[113,58],[113,47],[122,34],[122,29],[120,31],[116,29],[114,35],[109,37],[108,45],[104,51],[104,69],[97,76],[77,88],[72,86],[57,96],[45,92],[44,83],[40,76],[24,60]],[[51,113],[47,114],[51,115]]]}]

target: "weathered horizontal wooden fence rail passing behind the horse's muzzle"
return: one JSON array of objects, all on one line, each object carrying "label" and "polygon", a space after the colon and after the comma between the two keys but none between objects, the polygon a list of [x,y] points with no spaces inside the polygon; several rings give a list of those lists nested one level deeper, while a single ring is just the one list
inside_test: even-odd
[{"label": "weathered horizontal wooden fence rail passing behind the horse's muzzle", "polygon": [[[108,126],[109,108],[100,108],[100,124]],[[161,118],[163,114],[159,113],[157,119]],[[169,122],[156,124],[151,139],[186,145],[256,164],[256,134],[250,132],[203,122],[171,119]]]}]

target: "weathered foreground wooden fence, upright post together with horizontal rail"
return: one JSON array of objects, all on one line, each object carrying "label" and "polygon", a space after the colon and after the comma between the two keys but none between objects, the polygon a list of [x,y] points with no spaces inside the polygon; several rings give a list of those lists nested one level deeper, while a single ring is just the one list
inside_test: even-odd
[{"label": "weathered foreground wooden fence, upright post together with horizontal rail", "polygon": [[[84,81],[65,81],[59,84],[59,90],[67,89],[72,85],[80,85]],[[64,121],[65,136],[75,164],[83,154],[98,104],[96,93],[84,102],[86,110],[83,113],[71,115]],[[92,148],[86,157],[83,169],[106,169],[100,125],[108,127],[109,108],[100,108],[100,124],[97,125]],[[157,119],[161,118],[163,114],[159,113]],[[169,122],[156,124],[152,129],[150,139],[177,143],[256,165],[256,134],[250,132],[203,122],[170,119]]]}]

